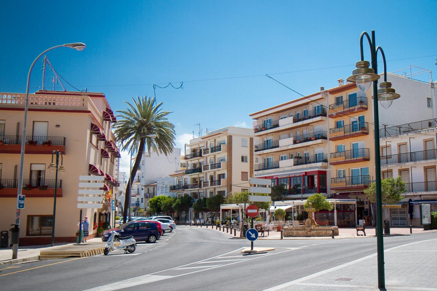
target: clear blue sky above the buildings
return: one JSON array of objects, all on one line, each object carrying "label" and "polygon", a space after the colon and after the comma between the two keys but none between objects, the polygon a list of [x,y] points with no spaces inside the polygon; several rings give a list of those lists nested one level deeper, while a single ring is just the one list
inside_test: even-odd
[{"label": "clear blue sky above the buildings", "polygon": [[[249,113],[298,98],[265,76],[187,81],[349,65],[274,75],[310,94],[350,75],[359,36],[371,30],[387,60],[414,58],[388,62],[389,72],[410,64],[434,69],[437,58],[416,58],[437,55],[436,1],[61,2],[2,2],[0,90],[24,92],[28,68],[41,51],[81,41],[84,51],[59,48],[47,56],[73,86],[104,92],[113,110],[134,96],[153,96],[152,85],[139,84],[184,81],[183,90],[156,89],[158,102],[173,112],[178,146],[198,133],[195,123],[204,132],[250,127]],[[364,51],[369,59],[367,46]],[[41,64],[31,91],[42,86]]]}]

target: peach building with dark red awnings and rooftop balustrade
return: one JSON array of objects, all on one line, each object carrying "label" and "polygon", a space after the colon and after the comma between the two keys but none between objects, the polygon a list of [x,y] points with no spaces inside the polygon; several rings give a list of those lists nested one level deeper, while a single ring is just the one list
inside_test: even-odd
[{"label": "peach building with dark red awnings and rooftop balustrade", "polygon": [[[111,217],[113,177],[118,149],[111,124],[114,113],[103,93],[38,91],[29,95],[27,136],[22,137],[25,94],[0,93],[0,201],[3,205],[0,229],[15,223],[21,140],[26,142],[21,209],[20,244],[41,245],[51,240],[55,173],[48,171],[52,151],[62,152],[66,168],[58,175],[55,242],[76,241],[80,209],[76,207],[80,175],[104,175],[102,209],[83,209],[90,220],[90,236],[97,234],[93,223]],[[59,173],[62,174],[62,173]]]}]

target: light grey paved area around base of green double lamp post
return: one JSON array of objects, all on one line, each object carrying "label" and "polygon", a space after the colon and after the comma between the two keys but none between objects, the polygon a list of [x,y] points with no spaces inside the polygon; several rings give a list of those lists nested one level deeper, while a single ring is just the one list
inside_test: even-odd
[{"label": "light grey paved area around base of green double lamp post", "polygon": [[[384,251],[386,290],[437,291],[437,238],[406,243]],[[323,260],[323,258],[321,258]],[[371,254],[265,291],[375,291],[378,287],[377,256]]]}]

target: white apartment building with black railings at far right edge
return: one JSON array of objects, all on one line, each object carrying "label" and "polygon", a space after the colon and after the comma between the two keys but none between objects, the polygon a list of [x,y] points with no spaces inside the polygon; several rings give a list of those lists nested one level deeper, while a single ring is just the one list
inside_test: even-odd
[{"label": "white apartment building with black railings at far right edge", "polygon": [[[385,127],[379,130],[381,177],[400,176],[406,198],[398,208],[385,209],[393,226],[420,226],[420,204],[437,211],[437,120],[435,118]],[[413,205],[413,220],[408,205]]]}]

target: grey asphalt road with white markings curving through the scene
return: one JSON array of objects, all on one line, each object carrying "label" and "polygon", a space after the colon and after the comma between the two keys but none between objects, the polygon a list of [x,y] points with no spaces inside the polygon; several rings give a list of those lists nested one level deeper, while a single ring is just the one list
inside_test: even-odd
[{"label": "grey asphalt road with white markings curving through the scene", "polygon": [[[437,233],[385,237],[385,248]],[[178,226],[133,254],[45,260],[0,267],[1,290],[264,290],[376,252],[375,237],[259,240],[275,250],[242,255],[247,240]]]}]

